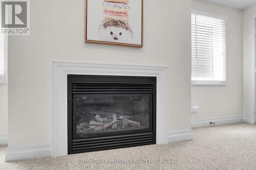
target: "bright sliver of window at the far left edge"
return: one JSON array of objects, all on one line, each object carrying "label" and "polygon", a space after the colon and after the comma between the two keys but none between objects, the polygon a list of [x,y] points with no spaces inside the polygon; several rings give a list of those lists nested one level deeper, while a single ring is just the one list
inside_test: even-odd
[{"label": "bright sliver of window at the far left edge", "polygon": [[[0,25],[2,23],[1,9],[2,8],[0,8]],[[0,34],[0,84],[7,84],[7,37],[7,35]]]}]

